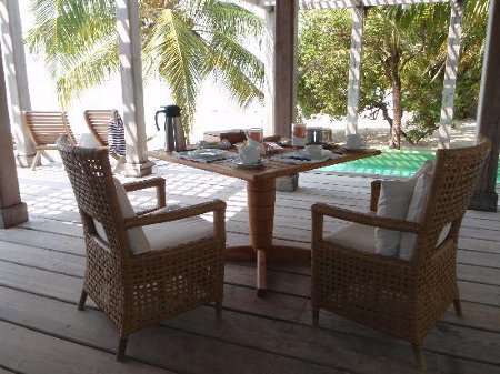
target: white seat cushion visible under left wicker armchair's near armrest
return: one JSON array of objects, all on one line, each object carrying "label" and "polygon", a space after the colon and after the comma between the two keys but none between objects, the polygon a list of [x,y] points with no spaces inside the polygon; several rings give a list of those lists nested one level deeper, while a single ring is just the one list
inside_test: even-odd
[{"label": "white seat cushion visible under left wicker armchair's near armrest", "polygon": [[194,240],[213,236],[213,223],[201,216],[142,226],[151,251],[164,250]]}]

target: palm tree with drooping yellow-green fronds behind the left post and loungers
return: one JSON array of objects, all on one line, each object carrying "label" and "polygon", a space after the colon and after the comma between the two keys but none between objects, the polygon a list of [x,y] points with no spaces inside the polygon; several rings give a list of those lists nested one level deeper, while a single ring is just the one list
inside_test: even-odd
[{"label": "palm tree with drooping yellow-green fronds behind the left post and loungers", "polygon": [[[114,0],[31,0],[27,43],[43,52],[62,107],[119,71]],[[261,99],[263,65],[248,48],[263,22],[219,0],[141,0],[146,79],[161,79],[183,109],[189,133],[201,83],[212,74],[241,107]]]}]

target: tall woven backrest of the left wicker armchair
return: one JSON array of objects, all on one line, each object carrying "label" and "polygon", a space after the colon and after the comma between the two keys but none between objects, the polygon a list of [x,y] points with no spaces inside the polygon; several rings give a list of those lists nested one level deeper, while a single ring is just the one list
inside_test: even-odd
[{"label": "tall woven backrest of the left wicker armchair", "polygon": [[96,243],[97,221],[104,229],[117,264],[126,261],[130,250],[108,150],[74,146],[66,137],[57,141],[57,146],[82,218],[87,245],[89,241]]}]

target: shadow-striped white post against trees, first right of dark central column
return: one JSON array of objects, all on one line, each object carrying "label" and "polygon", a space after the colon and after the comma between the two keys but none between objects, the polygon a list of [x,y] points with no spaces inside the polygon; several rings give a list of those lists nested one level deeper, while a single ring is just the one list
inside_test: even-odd
[{"label": "shadow-striped white post against trees, first right of dark central column", "polygon": [[348,115],[346,134],[358,133],[359,92],[361,89],[361,52],[364,8],[352,8],[352,33],[349,63]]}]

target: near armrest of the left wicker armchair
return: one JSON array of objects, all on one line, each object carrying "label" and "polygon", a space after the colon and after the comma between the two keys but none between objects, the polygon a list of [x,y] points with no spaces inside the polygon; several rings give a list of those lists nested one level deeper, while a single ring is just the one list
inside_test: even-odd
[{"label": "near armrest of the left wicker armchair", "polygon": [[191,205],[188,208],[180,208],[159,214],[141,215],[124,220],[126,229],[144,226],[148,224],[162,223],[169,221],[178,221],[189,216],[200,215],[203,213],[213,212],[214,233],[218,237],[226,236],[226,203],[221,200],[213,200],[210,202]]}]

